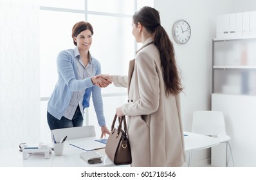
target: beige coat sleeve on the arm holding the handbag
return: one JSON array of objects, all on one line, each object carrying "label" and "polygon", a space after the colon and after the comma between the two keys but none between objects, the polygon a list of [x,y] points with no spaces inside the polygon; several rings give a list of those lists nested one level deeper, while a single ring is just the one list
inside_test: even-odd
[{"label": "beige coat sleeve on the arm holding the handbag", "polygon": [[[151,114],[158,110],[160,100],[159,76],[156,64],[147,53],[139,53],[136,57],[139,98],[122,106],[122,113],[128,116]],[[131,87],[130,87],[131,88]],[[135,89],[130,89],[136,91]],[[129,96],[133,98],[133,95]]]}]

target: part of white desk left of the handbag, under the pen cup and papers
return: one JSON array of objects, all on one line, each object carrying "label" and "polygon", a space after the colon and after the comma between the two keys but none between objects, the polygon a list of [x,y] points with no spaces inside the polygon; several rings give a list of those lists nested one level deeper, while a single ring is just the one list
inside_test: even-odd
[{"label": "part of white desk left of the handbag, under the pen cup and papers", "polygon": [[0,150],[0,167],[113,167],[114,164],[105,156],[104,149],[96,150],[102,156],[102,163],[88,164],[79,156],[84,150],[69,145],[69,143],[93,140],[95,137],[67,140],[63,155],[55,156],[53,152],[49,159],[44,159],[43,154],[32,154],[28,159],[23,159],[23,153],[19,152],[18,146]]}]

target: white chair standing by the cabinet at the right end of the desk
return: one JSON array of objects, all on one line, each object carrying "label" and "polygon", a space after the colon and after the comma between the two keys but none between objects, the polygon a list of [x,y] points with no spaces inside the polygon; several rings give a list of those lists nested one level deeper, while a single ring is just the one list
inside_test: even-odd
[{"label": "white chair standing by the cabinet at the right end of the desk", "polygon": [[[224,115],[221,111],[196,111],[193,114],[192,132],[217,138],[220,143],[226,143],[226,167],[228,167],[228,141]],[[230,152],[232,155],[231,147]],[[190,154],[191,160],[191,154]],[[233,158],[232,158],[233,159]]]}]

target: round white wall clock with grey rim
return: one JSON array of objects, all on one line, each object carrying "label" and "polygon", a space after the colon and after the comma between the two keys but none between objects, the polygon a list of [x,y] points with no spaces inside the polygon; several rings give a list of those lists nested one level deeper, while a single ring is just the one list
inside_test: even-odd
[{"label": "round white wall clock with grey rim", "polygon": [[172,26],[172,36],[178,44],[185,44],[190,39],[191,29],[187,21],[178,20]]}]

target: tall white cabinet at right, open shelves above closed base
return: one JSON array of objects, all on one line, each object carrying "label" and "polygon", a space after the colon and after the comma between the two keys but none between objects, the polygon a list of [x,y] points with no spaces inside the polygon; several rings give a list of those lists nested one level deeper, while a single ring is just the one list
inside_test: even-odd
[{"label": "tall white cabinet at right, open shelves above closed base", "polygon": [[[256,167],[255,49],[256,37],[213,40],[212,111],[224,113],[235,167]],[[212,149],[214,165],[224,167],[225,148]],[[228,157],[232,167],[230,154]]]}]

